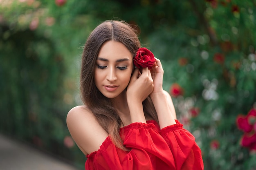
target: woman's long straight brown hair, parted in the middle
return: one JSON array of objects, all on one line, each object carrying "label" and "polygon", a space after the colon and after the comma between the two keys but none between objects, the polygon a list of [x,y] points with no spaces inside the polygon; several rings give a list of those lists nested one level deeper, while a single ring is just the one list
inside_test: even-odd
[{"label": "woman's long straight brown hair, parted in the middle", "polygon": [[[123,150],[127,150],[121,141],[119,129],[121,119],[110,99],[105,97],[94,84],[94,70],[101,46],[114,40],[123,43],[126,48],[136,54],[140,48],[140,42],[134,29],[124,21],[108,20],[97,26],[89,35],[82,54],[80,74],[80,94],[85,106],[87,106],[95,118],[106,130],[113,143]],[[145,116],[152,117],[158,122],[157,113],[150,97],[143,104]]]}]

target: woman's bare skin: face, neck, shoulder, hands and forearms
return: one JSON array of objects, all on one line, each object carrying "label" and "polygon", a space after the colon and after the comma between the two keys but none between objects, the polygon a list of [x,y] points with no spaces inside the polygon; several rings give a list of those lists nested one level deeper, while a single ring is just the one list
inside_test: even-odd
[{"label": "woman's bare skin: face, neck, shoulder, hands and forearms", "polygon": [[[146,123],[150,119],[144,116],[142,107],[148,95],[157,111],[160,128],[176,124],[171,96],[162,88],[164,71],[160,60],[156,59],[151,70],[143,68],[140,73],[136,68],[133,74],[132,70],[132,54],[124,44],[113,40],[103,44],[95,68],[95,84],[103,95],[113,100],[124,126],[134,122]],[[67,127],[85,155],[99,150],[108,137],[86,105],[69,111]]]}]

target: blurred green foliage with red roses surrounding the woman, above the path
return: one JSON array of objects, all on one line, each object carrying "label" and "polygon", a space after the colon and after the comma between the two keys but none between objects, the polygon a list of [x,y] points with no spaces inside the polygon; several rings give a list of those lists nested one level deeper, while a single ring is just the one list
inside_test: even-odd
[{"label": "blurred green foliage with red roses surrounding the woman, above the path", "polygon": [[0,133],[84,169],[65,119],[82,46],[111,19],[162,61],[204,169],[256,170],[256,0],[0,0]]}]

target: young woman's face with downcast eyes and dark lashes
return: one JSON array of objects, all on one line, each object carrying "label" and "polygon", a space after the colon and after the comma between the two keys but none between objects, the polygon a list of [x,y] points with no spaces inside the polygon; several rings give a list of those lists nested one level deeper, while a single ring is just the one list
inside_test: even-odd
[{"label": "young woman's face with downcast eyes and dark lashes", "polygon": [[111,40],[103,44],[94,77],[99,91],[108,98],[122,93],[130,82],[132,63],[132,53],[121,42]]}]

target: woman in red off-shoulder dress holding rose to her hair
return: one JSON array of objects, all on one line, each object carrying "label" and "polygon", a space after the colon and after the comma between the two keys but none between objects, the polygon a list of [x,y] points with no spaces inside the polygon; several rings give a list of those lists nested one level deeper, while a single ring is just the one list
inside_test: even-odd
[{"label": "woman in red off-shoulder dress holding rose to her hair", "polygon": [[163,74],[126,22],[105,21],[92,31],[81,62],[84,105],[67,115],[86,170],[203,169],[195,138],[175,120]]}]

